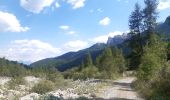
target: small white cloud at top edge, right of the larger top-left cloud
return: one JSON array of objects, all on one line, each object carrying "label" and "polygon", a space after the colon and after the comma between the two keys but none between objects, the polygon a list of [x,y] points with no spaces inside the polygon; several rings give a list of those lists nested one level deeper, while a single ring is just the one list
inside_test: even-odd
[{"label": "small white cloud at top edge, right of the larger top-left cloud", "polygon": [[67,3],[73,6],[73,9],[84,7],[85,0],[67,0]]}]

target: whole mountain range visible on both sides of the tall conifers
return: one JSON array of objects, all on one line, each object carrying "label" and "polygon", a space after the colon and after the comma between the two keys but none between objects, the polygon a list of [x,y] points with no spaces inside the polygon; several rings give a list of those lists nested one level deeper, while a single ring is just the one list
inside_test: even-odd
[{"label": "whole mountain range visible on both sides of the tall conifers", "polygon": [[[164,23],[159,23],[156,27],[159,33],[170,35],[170,16],[167,17]],[[130,35],[124,33],[123,35],[117,35],[113,38],[109,37],[107,44],[97,43],[87,49],[83,49],[77,52],[68,52],[59,57],[47,58],[32,63],[31,67],[56,67],[59,71],[65,71],[67,69],[79,66],[85,59],[87,54],[90,52],[93,61],[95,58],[102,53],[102,51],[108,46],[117,46],[123,50],[124,55],[130,53],[130,49],[127,48],[128,39]]]}]

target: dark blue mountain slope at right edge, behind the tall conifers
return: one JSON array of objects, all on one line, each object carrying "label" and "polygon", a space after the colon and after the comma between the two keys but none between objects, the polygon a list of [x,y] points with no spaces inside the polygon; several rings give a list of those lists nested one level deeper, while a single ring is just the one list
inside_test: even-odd
[{"label": "dark blue mountain slope at right edge, behind the tall conifers", "polygon": [[164,23],[159,23],[156,30],[159,33],[170,35],[170,16],[166,18]]}]

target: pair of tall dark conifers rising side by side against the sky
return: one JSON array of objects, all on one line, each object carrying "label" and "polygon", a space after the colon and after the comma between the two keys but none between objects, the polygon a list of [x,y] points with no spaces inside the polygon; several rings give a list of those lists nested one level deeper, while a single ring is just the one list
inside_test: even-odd
[{"label": "pair of tall dark conifers rising side by side against the sky", "polygon": [[[150,35],[155,32],[156,19],[157,19],[157,0],[144,0],[145,8],[140,9],[138,3],[135,5],[134,11],[129,17],[129,29],[132,35],[129,47],[131,49],[131,54],[129,55],[129,69],[138,69],[141,63],[141,56],[143,55],[143,46],[145,45],[145,40],[143,34]],[[148,36],[149,36],[148,35]],[[152,36],[150,36],[152,37]]]}]

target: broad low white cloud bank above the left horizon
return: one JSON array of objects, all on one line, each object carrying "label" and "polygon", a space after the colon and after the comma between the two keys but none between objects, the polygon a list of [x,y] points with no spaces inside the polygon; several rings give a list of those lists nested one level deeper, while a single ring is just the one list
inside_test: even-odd
[{"label": "broad low white cloud bank above the left horizon", "polygon": [[1,50],[0,56],[15,61],[35,62],[48,57],[56,57],[60,53],[59,48],[40,40],[15,40],[6,50]]}]

